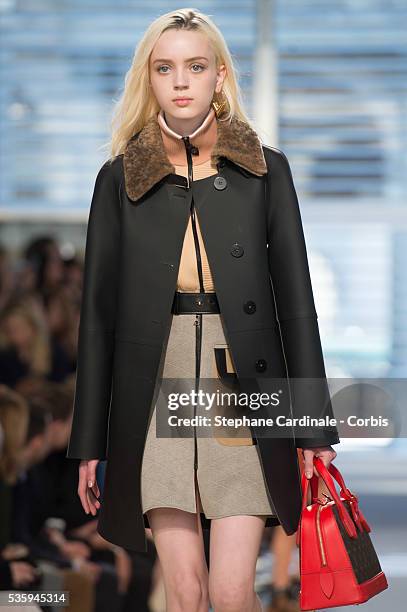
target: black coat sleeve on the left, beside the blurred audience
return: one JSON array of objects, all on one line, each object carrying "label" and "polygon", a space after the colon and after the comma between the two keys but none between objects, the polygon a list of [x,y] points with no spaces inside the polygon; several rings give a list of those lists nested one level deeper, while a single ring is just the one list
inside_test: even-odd
[{"label": "black coat sleeve on the left, beside the blurred audience", "polygon": [[107,454],[120,245],[118,182],[106,162],[96,177],[88,218],[68,458],[105,459]]}]

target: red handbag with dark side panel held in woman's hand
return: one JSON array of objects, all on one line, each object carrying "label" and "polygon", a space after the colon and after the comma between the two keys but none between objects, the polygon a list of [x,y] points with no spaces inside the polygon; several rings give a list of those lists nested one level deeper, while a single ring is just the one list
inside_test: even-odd
[{"label": "red handbag with dark side panel held in woman's hand", "polygon": [[[360,604],[388,588],[358,498],[332,462],[314,466],[330,496],[318,497],[318,476],[302,474],[302,510],[297,530],[300,552],[300,609]],[[334,480],[341,487],[336,490]],[[309,483],[311,504],[307,505]]]}]

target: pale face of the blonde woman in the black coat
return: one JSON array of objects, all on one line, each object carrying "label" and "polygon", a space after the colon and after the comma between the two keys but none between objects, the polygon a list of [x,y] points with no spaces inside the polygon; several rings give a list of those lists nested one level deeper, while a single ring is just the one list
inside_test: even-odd
[{"label": "pale face of the blonde woman in the black coat", "polygon": [[[150,82],[168,125],[188,135],[209,111],[214,92],[219,93],[226,76],[216,60],[207,37],[191,30],[166,30],[150,55]],[[188,103],[174,98],[185,96]]]}]

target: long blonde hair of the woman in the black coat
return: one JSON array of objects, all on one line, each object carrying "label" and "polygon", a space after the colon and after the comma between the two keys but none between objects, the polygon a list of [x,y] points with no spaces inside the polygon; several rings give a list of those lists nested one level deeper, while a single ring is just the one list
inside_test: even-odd
[{"label": "long blonde hair of the woman in the black coat", "polygon": [[124,152],[129,139],[160,110],[149,87],[149,59],[157,40],[168,29],[195,30],[207,35],[215,54],[216,66],[225,64],[226,67],[221,100],[226,97],[227,103],[225,112],[218,119],[230,121],[232,117],[237,117],[250,125],[243,108],[238,70],[220,30],[210,17],[195,8],[170,11],[149,25],[136,47],[132,64],[125,76],[123,93],[113,107],[111,140],[102,147],[109,148],[110,161]]}]

